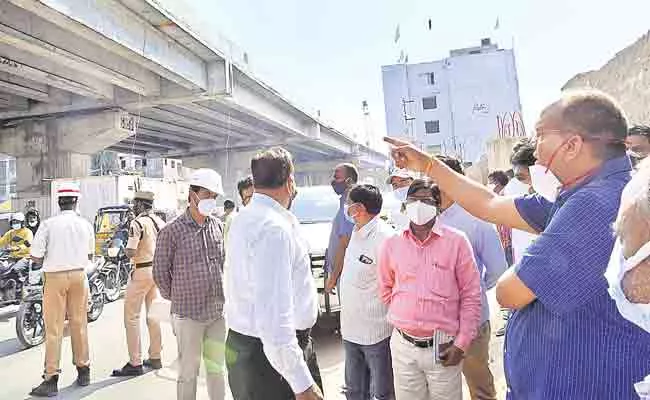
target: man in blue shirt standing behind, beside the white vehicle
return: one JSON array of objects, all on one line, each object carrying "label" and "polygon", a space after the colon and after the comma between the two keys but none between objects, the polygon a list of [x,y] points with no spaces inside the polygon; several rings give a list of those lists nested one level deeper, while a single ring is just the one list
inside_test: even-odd
[{"label": "man in blue shirt standing behind, beside the white vehicle", "polygon": [[332,189],[340,197],[339,210],[332,221],[332,231],[330,232],[330,242],[327,246],[325,258],[325,270],[329,278],[325,283],[325,290],[331,293],[336,287],[343,271],[343,259],[345,258],[345,249],[350,242],[350,236],[354,229],[354,221],[349,220],[343,213],[344,205],[348,197],[348,192],[359,180],[359,171],[352,164],[340,164],[334,169],[332,177]]}]

